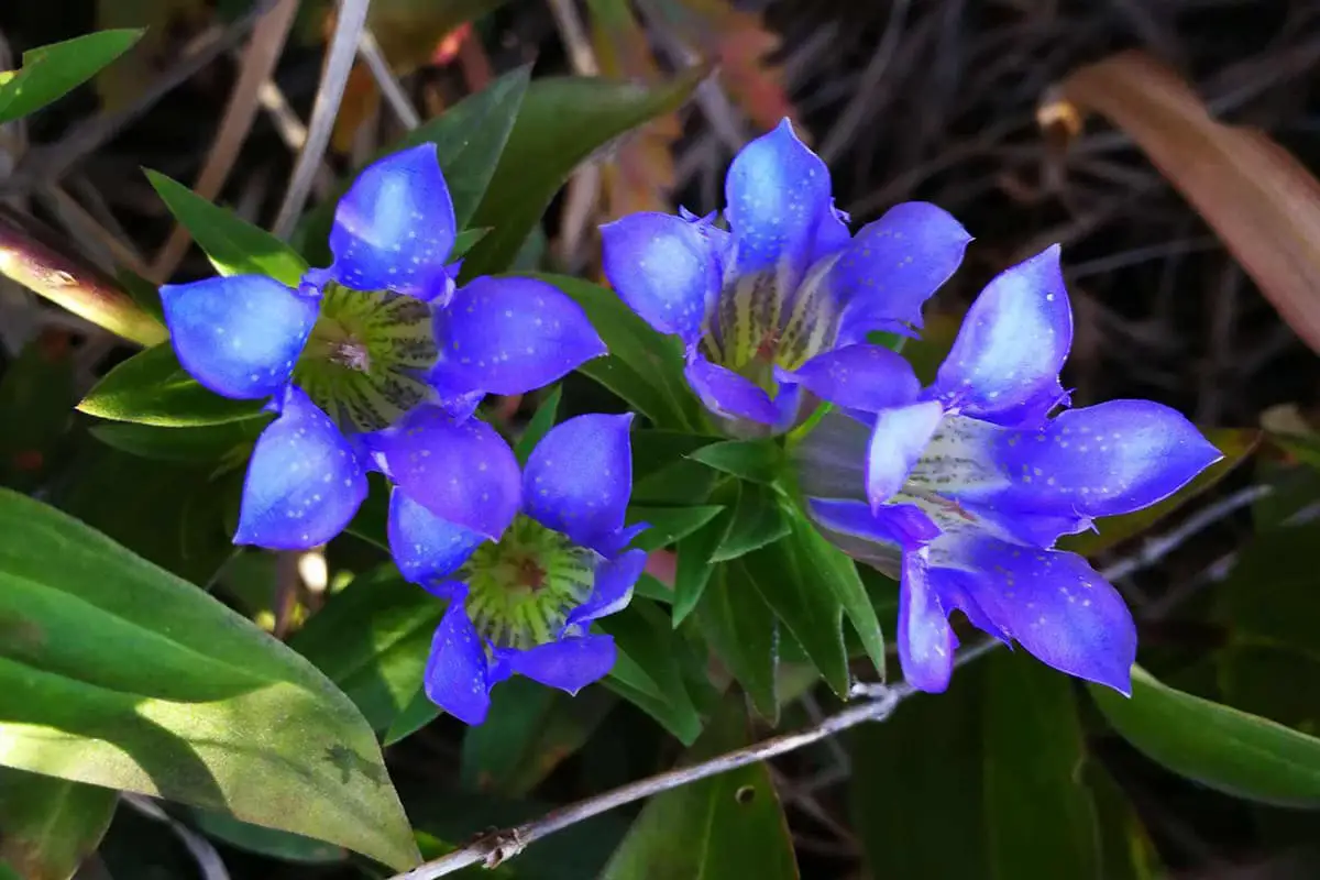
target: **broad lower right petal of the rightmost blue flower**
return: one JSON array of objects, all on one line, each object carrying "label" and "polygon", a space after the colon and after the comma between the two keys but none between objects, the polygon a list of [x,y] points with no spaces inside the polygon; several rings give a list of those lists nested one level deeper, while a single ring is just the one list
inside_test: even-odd
[{"label": "broad lower right petal of the rightmost blue flower", "polygon": [[1131,693],[1137,625],[1118,595],[1080,555],[978,538],[960,550],[981,570],[985,613],[1043,662]]}]

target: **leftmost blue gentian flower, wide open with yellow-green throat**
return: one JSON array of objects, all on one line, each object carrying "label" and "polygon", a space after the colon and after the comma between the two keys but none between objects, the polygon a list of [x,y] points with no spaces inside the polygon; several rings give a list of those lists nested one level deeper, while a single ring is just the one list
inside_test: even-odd
[{"label": "leftmost blue gentian flower, wide open with yellow-green throat", "polygon": [[[466,417],[482,394],[560,379],[605,346],[582,310],[531,278],[454,289],[454,207],[422,144],[367,168],[335,210],[334,263],[294,289],[257,274],[161,288],[180,363],[279,414],[248,466],[235,544],[306,549],[367,493],[374,433],[424,404]],[[432,503],[424,487],[414,492]],[[440,493],[436,512],[442,513]]]}]

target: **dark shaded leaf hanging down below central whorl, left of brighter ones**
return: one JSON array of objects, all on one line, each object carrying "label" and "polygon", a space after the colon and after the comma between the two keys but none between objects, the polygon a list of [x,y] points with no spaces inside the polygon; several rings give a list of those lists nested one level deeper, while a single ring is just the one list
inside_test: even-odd
[{"label": "dark shaded leaf hanging down below central whorl, left of brighter ones", "polygon": [[[681,559],[680,555],[680,563]],[[779,639],[775,615],[755,590],[747,590],[746,584],[731,588],[730,581],[737,584],[747,579],[742,573],[730,577],[739,565],[731,562],[715,570],[714,583],[697,604],[697,625],[710,649],[747,691],[756,712],[771,724],[777,724]]]}]

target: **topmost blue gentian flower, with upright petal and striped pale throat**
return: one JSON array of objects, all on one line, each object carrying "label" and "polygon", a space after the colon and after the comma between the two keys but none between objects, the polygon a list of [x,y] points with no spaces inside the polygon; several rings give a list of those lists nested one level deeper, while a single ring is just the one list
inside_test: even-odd
[{"label": "topmost blue gentian flower, with upright petal and striped pale throat", "polygon": [[970,236],[908,202],[850,236],[829,169],[785,119],[738,153],[713,216],[642,212],[602,228],[605,274],[652,327],[686,346],[693,391],[735,434],[787,430],[799,375],[875,330],[911,332]]}]

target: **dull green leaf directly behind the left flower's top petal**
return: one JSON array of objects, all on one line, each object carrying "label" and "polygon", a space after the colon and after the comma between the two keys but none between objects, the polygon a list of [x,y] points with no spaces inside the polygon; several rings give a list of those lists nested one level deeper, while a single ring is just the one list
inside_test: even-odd
[{"label": "dull green leaf directly behind the left flower's top petal", "polygon": [[[527,94],[529,73],[529,67],[519,67],[504,74],[482,91],[469,95],[396,144],[380,150],[372,161],[418,144],[434,144],[436,158],[440,161],[445,183],[449,186],[449,197],[454,203],[457,228],[465,230],[504,152],[504,144]],[[356,174],[352,178],[356,178]],[[298,224],[294,241],[313,263],[330,261],[327,241],[334,223],[335,203],[348,191],[352,178],[341,182],[333,198],[310,211]],[[478,226],[479,234],[477,230],[465,230],[458,235],[449,255],[450,260],[466,255],[478,240],[486,237],[490,232],[488,226]]]}]

